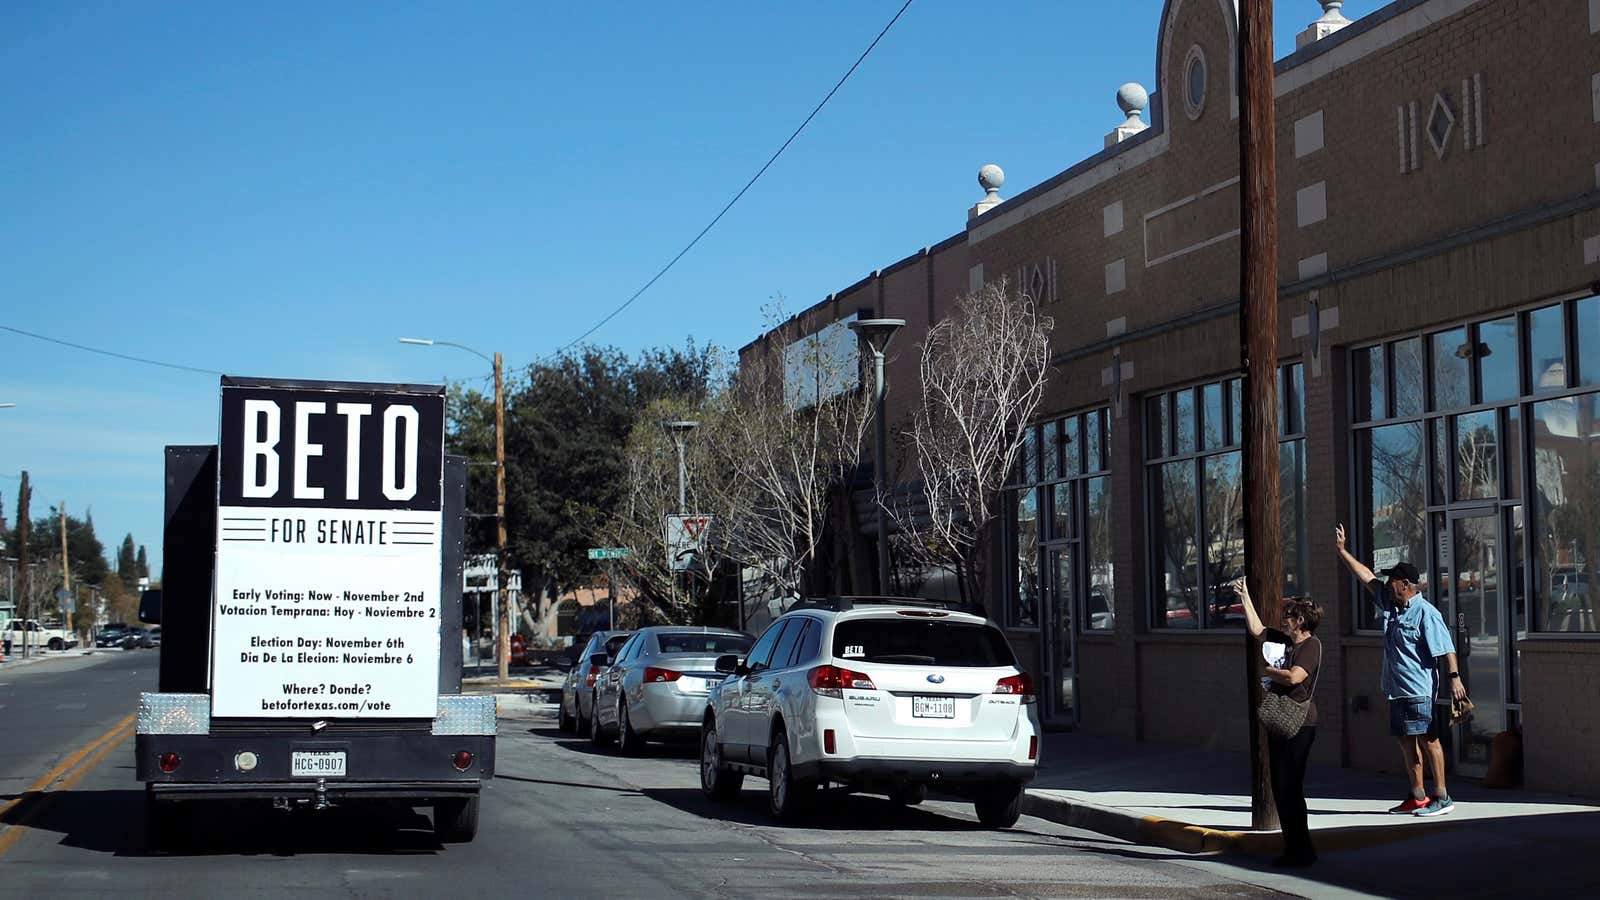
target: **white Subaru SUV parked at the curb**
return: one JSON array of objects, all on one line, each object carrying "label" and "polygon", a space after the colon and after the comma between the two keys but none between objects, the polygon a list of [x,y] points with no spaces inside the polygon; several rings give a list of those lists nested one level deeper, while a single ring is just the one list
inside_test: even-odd
[{"label": "white Subaru SUV parked at the curb", "polygon": [[738,657],[707,698],[701,790],[768,780],[778,818],[829,783],[918,804],[928,785],[968,794],[1008,828],[1038,765],[1034,679],[1000,633],[954,604],[899,597],[802,601]]}]

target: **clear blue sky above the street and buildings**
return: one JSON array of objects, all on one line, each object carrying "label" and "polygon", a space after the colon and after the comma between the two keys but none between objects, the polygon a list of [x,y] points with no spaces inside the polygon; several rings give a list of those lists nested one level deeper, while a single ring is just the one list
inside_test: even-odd
[{"label": "clear blue sky above the street and buildings", "polygon": [[[438,381],[549,354],[694,235],[901,0],[0,5],[0,325],[237,375]],[[1376,10],[1352,0],[1346,14]],[[917,0],[597,343],[739,346],[1096,152],[1160,0]],[[1320,14],[1277,5],[1278,56]],[[0,496],[160,560],[214,375],[0,331]]]}]

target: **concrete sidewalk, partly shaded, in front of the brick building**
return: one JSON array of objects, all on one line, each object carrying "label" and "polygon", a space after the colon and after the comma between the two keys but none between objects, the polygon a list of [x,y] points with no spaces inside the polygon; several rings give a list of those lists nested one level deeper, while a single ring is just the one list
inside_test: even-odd
[{"label": "concrete sidewalk, partly shaded, in front of the brick building", "polygon": [[[1397,751],[1398,753],[1398,751]],[[1250,762],[1240,753],[1050,733],[1029,785],[1027,814],[1075,828],[1187,854],[1277,855],[1275,831],[1250,830]],[[1312,767],[1306,775],[1318,854],[1438,834],[1483,831],[1499,839],[1562,817],[1562,831],[1600,847],[1600,802],[1520,790],[1488,790],[1456,778],[1456,812],[1437,818],[1389,815],[1405,796],[1403,775]],[[1550,818],[1549,822],[1555,822]],[[1549,822],[1542,823],[1547,825]]]}]

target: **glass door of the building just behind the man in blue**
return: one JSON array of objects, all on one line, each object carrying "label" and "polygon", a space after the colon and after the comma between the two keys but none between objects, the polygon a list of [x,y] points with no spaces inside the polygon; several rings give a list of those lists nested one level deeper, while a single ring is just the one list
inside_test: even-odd
[{"label": "glass door of the building just behind the man in blue", "polygon": [[[1446,617],[1456,641],[1461,681],[1472,698],[1472,719],[1456,727],[1456,767],[1466,775],[1483,775],[1490,745],[1506,729],[1507,597],[1501,575],[1499,516],[1494,511],[1456,512],[1450,517],[1450,599]],[[1448,677],[1440,673],[1440,697],[1450,697]],[[1443,709],[1442,709],[1443,713]]]}]

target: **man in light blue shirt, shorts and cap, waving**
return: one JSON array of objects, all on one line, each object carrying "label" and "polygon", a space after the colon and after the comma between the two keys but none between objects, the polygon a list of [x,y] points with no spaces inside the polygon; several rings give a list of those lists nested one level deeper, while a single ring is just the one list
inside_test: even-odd
[{"label": "man in light blue shirt, shorts and cap, waving", "polygon": [[[1456,804],[1445,790],[1445,749],[1438,743],[1442,722],[1435,721],[1434,697],[1437,676],[1450,681],[1450,693],[1456,700],[1467,695],[1456,668],[1456,644],[1450,637],[1445,617],[1422,596],[1421,575],[1410,562],[1398,562],[1382,570],[1381,581],[1373,570],[1350,556],[1344,548],[1344,525],[1333,535],[1339,559],[1362,583],[1387,602],[1382,604],[1384,676],[1382,690],[1389,697],[1389,733],[1400,740],[1406,775],[1411,778],[1411,796],[1392,814],[1448,815]],[[1434,772],[1434,794],[1422,793],[1422,757]]]}]

